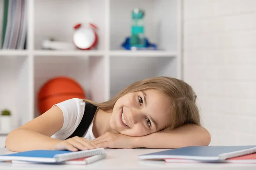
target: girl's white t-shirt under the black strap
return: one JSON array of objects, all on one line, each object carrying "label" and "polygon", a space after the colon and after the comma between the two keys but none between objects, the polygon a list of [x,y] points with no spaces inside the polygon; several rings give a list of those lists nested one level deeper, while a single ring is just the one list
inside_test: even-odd
[{"label": "girl's white t-shirt under the black strap", "polygon": [[[64,116],[64,122],[61,129],[53,134],[51,137],[64,140],[67,139],[67,137],[69,137],[78,127],[84,115],[84,109],[86,105],[82,99],[73,98],[68,99],[64,102],[60,102],[56,104],[56,106],[61,109]],[[91,122],[88,130],[85,132],[84,138],[87,140],[95,139],[93,135],[93,121]]]}]

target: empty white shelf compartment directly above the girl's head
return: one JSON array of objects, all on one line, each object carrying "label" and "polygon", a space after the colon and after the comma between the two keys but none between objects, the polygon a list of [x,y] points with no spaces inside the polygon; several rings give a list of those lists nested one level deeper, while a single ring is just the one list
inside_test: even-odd
[{"label": "empty white shelf compartment directly above the girl's head", "polygon": [[110,57],[110,96],[141,79],[158,76],[177,77],[174,57]]}]

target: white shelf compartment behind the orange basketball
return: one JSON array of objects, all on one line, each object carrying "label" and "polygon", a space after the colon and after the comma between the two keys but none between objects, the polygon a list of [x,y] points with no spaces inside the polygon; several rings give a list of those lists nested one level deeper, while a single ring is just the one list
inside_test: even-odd
[{"label": "white shelf compartment behind the orange basketball", "polygon": [[87,99],[105,100],[105,57],[85,56],[35,56],[35,117],[39,116],[38,92],[49,79],[65,76],[81,85]]}]

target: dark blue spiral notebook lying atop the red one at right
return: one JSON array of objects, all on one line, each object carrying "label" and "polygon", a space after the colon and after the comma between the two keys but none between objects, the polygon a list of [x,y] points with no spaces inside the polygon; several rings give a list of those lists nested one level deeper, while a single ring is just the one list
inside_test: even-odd
[{"label": "dark blue spiral notebook lying atop the red one at right", "polygon": [[192,159],[223,161],[236,156],[256,153],[256,145],[246,146],[189,146],[139,155],[139,159]]}]

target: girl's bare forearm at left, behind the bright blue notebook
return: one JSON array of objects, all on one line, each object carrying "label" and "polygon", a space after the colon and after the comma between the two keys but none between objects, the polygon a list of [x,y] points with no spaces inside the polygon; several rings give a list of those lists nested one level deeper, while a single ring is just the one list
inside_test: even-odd
[{"label": "girl's bare forearm at left, behind the bright blue notebook", "polygon": [[61,140],[53,139],[32,130],[16,129],[6,138],[6,148],[14,152],[27,150],[53,150]]}]

